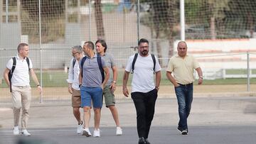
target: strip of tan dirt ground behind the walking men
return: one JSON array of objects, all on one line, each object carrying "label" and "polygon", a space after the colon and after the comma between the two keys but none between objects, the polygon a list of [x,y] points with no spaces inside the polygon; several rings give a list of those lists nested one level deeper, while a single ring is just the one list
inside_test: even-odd
[{"label": "strip of tan dirt ground behind the walking men", "polygon": [[[131,88],[129,87],[129,92]],[[124,99],[122,94],[122,86],[118,86],[114,92],[116,99]],[[194,85],[194,96],[256,96],[256,84],[250,85],[250,92],[247,92],[246,84],[225,84],[225,85]],[[0,90],[1,99],[9,99],[9,89],[2,88]],[[43,99],[70,99],[68,87],[44,87]],[[174,97],[174,87],[172,85],[161,85],[159,89],[159,97]],[[36,88],[32,88],[33,99],[40,99],[40,94]]]}]

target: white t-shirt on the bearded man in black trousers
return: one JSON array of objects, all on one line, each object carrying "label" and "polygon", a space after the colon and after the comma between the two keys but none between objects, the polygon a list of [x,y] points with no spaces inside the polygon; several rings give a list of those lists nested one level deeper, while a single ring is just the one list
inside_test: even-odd
[{"label": "white t-shirt on the bearded man in black trousers", "polygon": [[[129,57],[125,71],[131,72],[133,59],[134,55]],[[160,70],[161,67],[159,65],[159,60],[156,58],[155,72],[159,72]],[[150,92],[154,88],[154,62],[152,60],[152,57],[150,54],[146,57],[138,55],[134,65],[134,73],[132,76],[132,92],[146,93]]]}]

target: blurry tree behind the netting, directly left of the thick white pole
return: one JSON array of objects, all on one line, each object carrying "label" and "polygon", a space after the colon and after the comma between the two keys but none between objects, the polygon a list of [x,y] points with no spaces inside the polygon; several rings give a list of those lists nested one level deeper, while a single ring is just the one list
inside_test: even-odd
[{"label": "blurry tree behind the netting, directly left of the thick white pole", "polygon": [[[176,23],[176,0],[167,1],[142,1],[150,4],[150,10],[147,16],[142,18],[142,24],[151,28],[156,39],[156,51],[159,58],[161,55],[160,39],[166,38],[169,40],[169,57],[174,55],[174,26]],[[162,60],[159,60],[162,64]]]}]

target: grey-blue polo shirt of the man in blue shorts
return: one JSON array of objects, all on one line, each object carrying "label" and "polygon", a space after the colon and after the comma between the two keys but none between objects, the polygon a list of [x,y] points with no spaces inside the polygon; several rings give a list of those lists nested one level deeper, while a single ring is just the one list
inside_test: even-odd
[{"label": "grey-blue polo shirt of the man in blue shorts", "polygon": [[[97,63],[97,55],[94,55],[92,59],[85,56],[86,60],[82,67],[82,86],[84,87],[101,87],[102,85],[102,75],[100,73],[100,67]],[[102,58],[102,67],[107,67],[105,60]],[[79,67],[81,69],[80,60]]]}]

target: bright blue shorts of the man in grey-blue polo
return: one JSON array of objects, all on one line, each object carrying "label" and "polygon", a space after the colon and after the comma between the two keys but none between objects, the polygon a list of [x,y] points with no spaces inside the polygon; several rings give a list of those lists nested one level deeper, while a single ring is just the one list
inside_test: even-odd
[{"label": "bright blue shorts of the man in grey-blue polo", "polygon": [[[81,87],[81,107],[102,108],[102,87]],[[92,103],[91,103],[92,101]],[[92,105],[91,105],[92,104]]]}]

